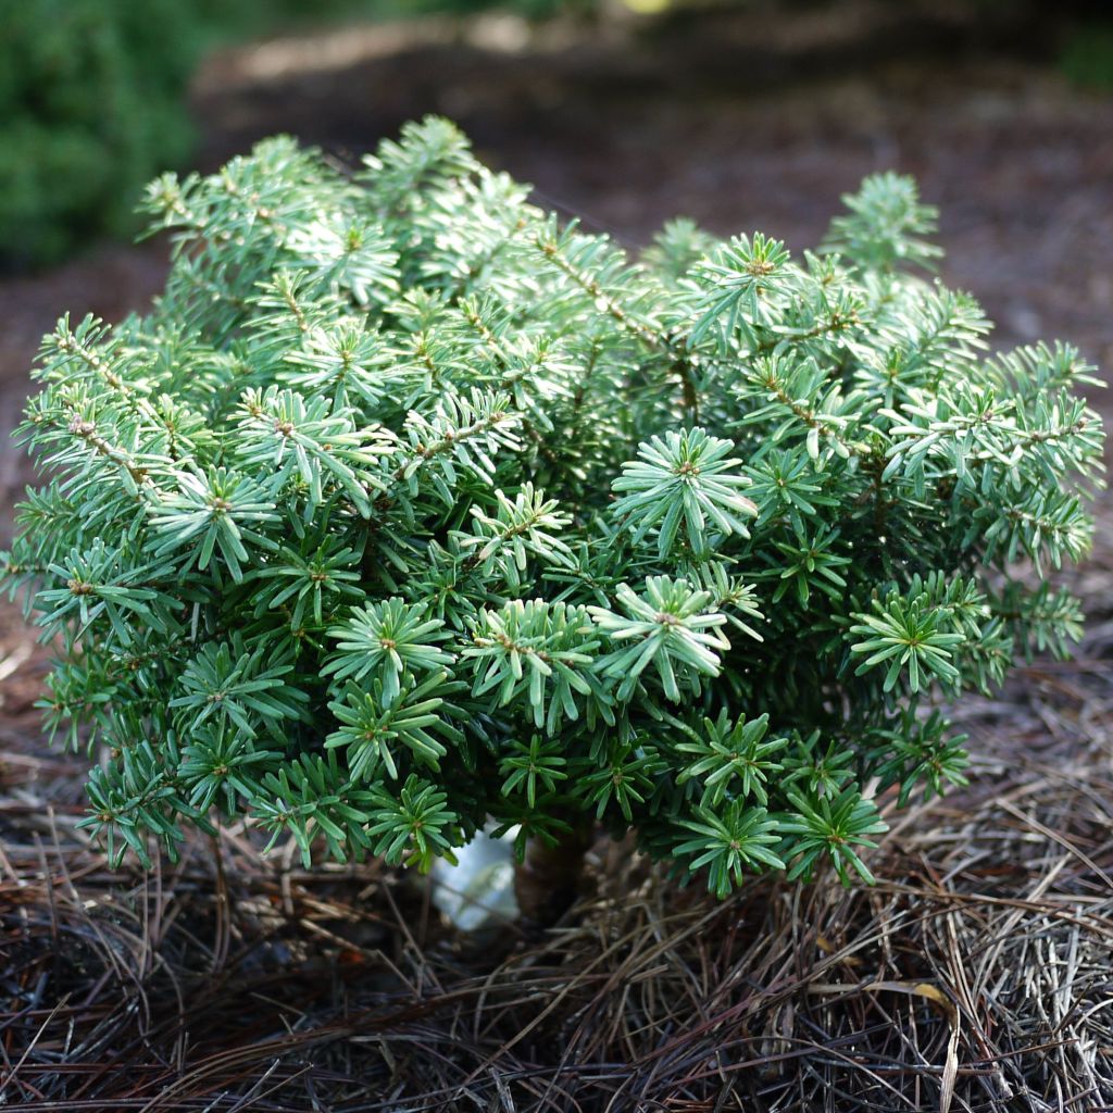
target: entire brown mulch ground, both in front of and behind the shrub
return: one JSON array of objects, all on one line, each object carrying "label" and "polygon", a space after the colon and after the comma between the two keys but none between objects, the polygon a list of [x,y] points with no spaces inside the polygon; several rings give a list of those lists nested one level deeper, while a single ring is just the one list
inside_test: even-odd
[{"label": "entire brown mulch ground, both in front of and behind the shrub", "polygon": [[[839,191],[897,166],[943,207],[945,277],[983,297],[998,342],[1062,335],[1113,365],[1109,100],[992,52],[664,80],[607,41],[589,66],[515,35],[226,55],[197,87],[205,158],[278,128],[349,157],[442,111],[631,245],[688,211],[796,248]],[[8,427],[55,316],[141,308],[164,266],[159,245],[105,248],[0,283]],[[4,502],[26,477],[9,444]],[[37,733],[43,651],[3,608],[0,1107],[1113,1110],[1107,504],[1100,524],[1076,659],[964,703],[972,788],[890,816],[875,888],[755,881],[715,904],[603,843],[541,937],[454,936],[420,880],[305,871],[237,829],[110,873],[76,827],[81,756]]]}]

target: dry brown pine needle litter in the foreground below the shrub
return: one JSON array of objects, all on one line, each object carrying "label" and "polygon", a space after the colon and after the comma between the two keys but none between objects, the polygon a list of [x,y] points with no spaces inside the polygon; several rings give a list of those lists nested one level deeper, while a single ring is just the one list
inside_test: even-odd
[{"label": "dry brown pine needle litter in the foreground below the shrub", "polygon": [[243,833],[112,874],[0,627],[0,1109],[1113,1110],[1113,541],[1077,659],[964,705],[972,787],[890,816],[874,888],[722,905],[601,843],[541,935]]}]

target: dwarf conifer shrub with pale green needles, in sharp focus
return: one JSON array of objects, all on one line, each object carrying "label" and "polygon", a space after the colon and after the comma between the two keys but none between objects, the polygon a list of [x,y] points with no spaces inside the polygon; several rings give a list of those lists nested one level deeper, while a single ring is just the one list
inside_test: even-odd
[{"label": "dwarf conifer shrub with pale green needles, in sharp focus", "polygon": [[637,831],[723,895],[868,878],[946,708],[1066,651],[1100,483],[1070,347],[986,355],[912,181],[817,253],[562,226],[430,119],[154,183],[151,313],[62,318],[6,558],[114,857],[245,817],[429,866]]}]

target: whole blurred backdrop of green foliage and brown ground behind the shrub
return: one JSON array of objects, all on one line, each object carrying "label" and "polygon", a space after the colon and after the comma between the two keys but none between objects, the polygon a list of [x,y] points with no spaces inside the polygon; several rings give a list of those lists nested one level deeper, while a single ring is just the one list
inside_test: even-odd
[{"label": "whole blurred backdrop of green foliage and brown ground behind the shrub", "polygon": [[[799,249],[915,174],[1002,344],[1113,363],[1109,0],[2,0],[0,373],[63,309],[161,282],[142,185],[292,132],[355,160],[412,117],[637,247],[686,214]],[[18,400],[17,400],[18,401]],[[7,415],[3,415],[7,416]]]}]

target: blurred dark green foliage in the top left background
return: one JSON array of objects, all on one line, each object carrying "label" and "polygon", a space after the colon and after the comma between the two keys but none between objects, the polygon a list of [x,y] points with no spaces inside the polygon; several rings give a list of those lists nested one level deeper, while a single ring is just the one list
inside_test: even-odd
[{"label": "blurred dark green foliage in the top left background", "polygon": [[[0,20],[0,267],[130,235],[142,185],[187,161],[206,49],[309,20],[465,14],[481,0],[19,0]],[[519,0],[551,14],[555,0]]]}]

